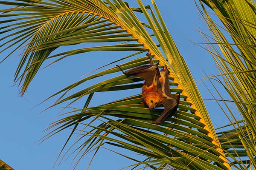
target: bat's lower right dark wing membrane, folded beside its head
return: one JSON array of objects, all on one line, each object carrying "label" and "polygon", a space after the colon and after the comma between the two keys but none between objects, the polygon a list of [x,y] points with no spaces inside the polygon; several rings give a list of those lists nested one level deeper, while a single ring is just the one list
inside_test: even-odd
[{"label": "bat's lower right dark wing membrane, folded beside its head", "polygon": [[167,120],[169,117],[171,117],[175,111],[177,111],[178,105],[180,102],[180,94],[175,99],[174,97],[168,97],[164,98],[162,101],[162,105],[164,106],[163,113],[160,114],[160,116],[152,122],[153,124],[160,124]]}]

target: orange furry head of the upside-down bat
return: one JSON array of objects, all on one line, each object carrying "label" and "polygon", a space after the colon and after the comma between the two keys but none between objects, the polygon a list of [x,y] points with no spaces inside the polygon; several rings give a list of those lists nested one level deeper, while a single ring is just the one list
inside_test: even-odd
[{"label": "orange furry head of the upside-down bat", "polygon": [[149,108],[154,109],[163,101],[163,96],[159,93],[148,93],[147,96],[145,96],[144,101]]}]

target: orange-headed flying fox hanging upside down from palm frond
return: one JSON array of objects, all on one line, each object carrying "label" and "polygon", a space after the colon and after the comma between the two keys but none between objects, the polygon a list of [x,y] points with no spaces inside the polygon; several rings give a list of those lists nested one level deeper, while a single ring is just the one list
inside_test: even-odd
[{"label": "orange-headed flying fox hanging upside down from palm frond", "polygon": [[173,97],[170,92],[167,67],[165,66],[159,71],[158,65],[154,64],[151,54],[147,55],[150,59],[150,65],[141,65],[125,72],[119,65],[117,66],[123,74],[143,77],[145,82],[142,86],[142,98],[145,104],[151,109],[160,105],[164,106],[163,113],[152,122],[153,124],[160,124],[171,117],[177,110],[180,94],[177,97]]}]

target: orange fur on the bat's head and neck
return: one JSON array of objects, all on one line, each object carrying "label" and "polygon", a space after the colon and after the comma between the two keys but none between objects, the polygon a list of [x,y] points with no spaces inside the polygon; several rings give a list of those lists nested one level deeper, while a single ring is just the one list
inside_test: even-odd
[{"label": "orange fur on the bat's head and neck", "polygon": [[142,98],[149,108],[154,109],[163,101],[162,91],[157,90],[157,86],[152,84],[151,86],[142,86]]}]

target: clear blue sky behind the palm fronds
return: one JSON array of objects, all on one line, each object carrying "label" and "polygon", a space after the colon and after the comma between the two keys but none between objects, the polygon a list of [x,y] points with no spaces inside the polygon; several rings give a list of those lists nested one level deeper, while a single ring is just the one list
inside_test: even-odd
[{"label": "clear blue sky behind the palm fronds", "polygon": [[[137,7],[135,0],[131,6]],[[194,45],[192,42],[203,42],[198,33],[199,27],[207,34],[207,28],[199,17],[194,1],[188,0],[156,0],[157,6],[162,12],[163,19],[169,28],[180,53],[185,58],[187,65],[198,84],[199,91],[203,99],[212,99],[205,85],[200,83],[200,79],[206,77],[204,71],[208,74],[218,74],[214,61],[210,54],[203,48]],[[1,6],[1,8],[4,8]],[[192,41],[192,42],[191,42]],[[72,47],[65,47],[72,48]],[[63,50],[60,48],[58,50]],[[12,51],[9,49],[1,54],[5,57]],[[118,59],[130,53],[125,52],[90,52],[78,56],[67,57],[55,65],[45,69],[40,69],[35,79],[29,86],[28,91],[23,97],[20,97],[17,85],[13,83],[15,70],[19,62],[19,55],[22,50],[16,51],[5,62],[0,64],[0,94],[1,94],[1,138],[0,138],[0,159],[5,161],[17,170],[48,170],[52,169],[58,153],[60,152],[70,130],[65,130],[47,141],[39,144],[40,140],[47,132],[43,130],[50,123],[58,120],[61,106],[51,108],[43,113],[55,99],[35,107],[48,96],[62,88],[78,81],[84,74],[99,68],[106,63]],[[204,71],[203,71],[204,70]],[[89,84],[88,84],[89,85]],[[121,99],[128,96],[128,92],[122,94],[98,93],[90,105],[99,105]],[[225,125],[226,117],[221,110],[212,101],[205,101],[209,111],[212,123],[215,127]],[[82,107],[83,103],[77,103],[76,107]],[[34,108],[35,107],[35,108]],[[221,119],[220,119],[221,118]],[[39,144],[39,145],[38,145]],[[110,147],[113,150],[125,153],[119,148]],[[133,156],[135,153],[128,153]],[[89,154],[81,160],[77,169],[84,170],[90,162],[92,154]],[[62,161],[60,166],[55,166],[55,170],[69,170],[72,156],[67,161]],[[120,169],[133,162],[109,150],[102,148],[93,160],[90,169],[105,170]]]}]

